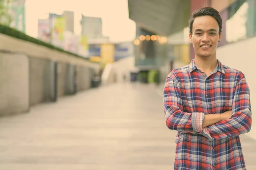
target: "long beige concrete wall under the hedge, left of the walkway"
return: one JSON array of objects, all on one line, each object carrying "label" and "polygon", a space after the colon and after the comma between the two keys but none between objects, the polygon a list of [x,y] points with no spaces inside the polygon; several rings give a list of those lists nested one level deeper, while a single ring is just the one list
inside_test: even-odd
[{"label": "long beige concrete wall under the hedge, left of the walkway", "polygon": [[0,115],[90,88],[100,65],[0,34]]}]

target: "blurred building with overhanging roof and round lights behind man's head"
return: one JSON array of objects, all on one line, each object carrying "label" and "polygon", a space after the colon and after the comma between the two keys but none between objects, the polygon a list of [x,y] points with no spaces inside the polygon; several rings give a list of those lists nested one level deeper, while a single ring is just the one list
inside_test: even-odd
[{"label": "blurred building with overhanging roof and round lights behind man's head", "polygon": [[129,18],[137,25],[134,54],[140,72],[158,71],[163,82],[172,69],[188,64],[195,57],[188,21],[206,6],[216,8],[223,20],[219,46],[255,36],[256,0],[128,0]]}]

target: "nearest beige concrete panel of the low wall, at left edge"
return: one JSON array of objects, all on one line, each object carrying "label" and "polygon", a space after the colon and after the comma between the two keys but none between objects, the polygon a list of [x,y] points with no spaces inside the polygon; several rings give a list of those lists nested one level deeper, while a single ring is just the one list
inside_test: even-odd
[{"label": "nearest beige concrete panel of the low wall, at left edge", "polygon": [[29,59],[0,53],[0,115],[29,111]]}]

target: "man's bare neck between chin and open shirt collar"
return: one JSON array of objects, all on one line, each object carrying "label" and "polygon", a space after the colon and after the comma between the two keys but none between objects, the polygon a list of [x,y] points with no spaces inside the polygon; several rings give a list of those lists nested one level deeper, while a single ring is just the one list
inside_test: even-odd
[{"label": "man's bare neck between chin and open shirt collar", "polygon": [[195,64],[196,66],[205,73],[210,73],[214,70],[217,65],[216,57],[198,57],[195,56]]}]

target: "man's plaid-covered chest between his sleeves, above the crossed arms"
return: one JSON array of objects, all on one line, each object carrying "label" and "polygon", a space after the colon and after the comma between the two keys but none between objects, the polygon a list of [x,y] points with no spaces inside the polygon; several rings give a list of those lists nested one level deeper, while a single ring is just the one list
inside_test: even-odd
[{"label": "man's plaid-covered chest between his sleeves, above the crossed arms", "polygon": [[232,109],[237,81],[222,74],[195,75],[180,79],[183,110],[223,113]]}]

